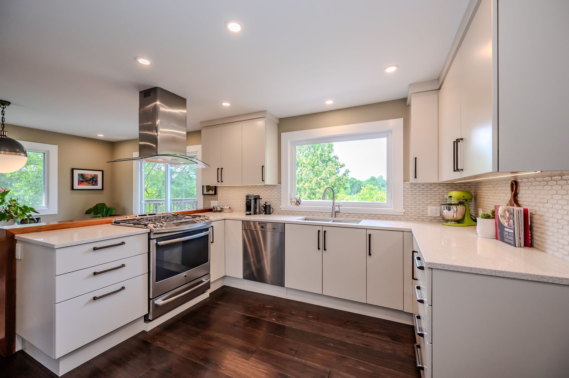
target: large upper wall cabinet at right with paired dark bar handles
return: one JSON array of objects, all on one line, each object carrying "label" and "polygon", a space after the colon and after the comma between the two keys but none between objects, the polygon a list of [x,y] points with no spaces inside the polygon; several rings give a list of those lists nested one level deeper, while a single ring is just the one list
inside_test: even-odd
[{"label": "large upper wall cabinet at right with paired dark bar handles", "polygon": [[567,14],[561,0],[480,1],[440,88],[439,181],[569,169]]}]

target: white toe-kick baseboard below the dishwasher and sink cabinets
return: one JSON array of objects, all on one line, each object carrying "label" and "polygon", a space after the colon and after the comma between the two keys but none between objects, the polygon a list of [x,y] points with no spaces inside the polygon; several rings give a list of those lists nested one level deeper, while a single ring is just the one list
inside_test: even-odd
[{"label": "white toe-kick baseboard below the dishwasher and sink cabinets", "polygon": [[310,303],[337,310],[349,311],[356,314],[368,315],[374,318],[387,319],[394,322],[413,324],[413,315],[400,310],[388,309],[381,306],[348,301],[341,298],[328,297],[322,294],[303,292],[302,290],[282,288],[254,281],[225,276],[225,285],[244,289],[250,292],[267,294],[274,297],[287,298],[293,301]]}]

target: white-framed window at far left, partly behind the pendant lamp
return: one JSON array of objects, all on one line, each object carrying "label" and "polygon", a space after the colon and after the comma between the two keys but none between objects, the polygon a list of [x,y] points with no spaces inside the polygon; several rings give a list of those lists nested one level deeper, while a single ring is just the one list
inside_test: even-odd
[{"label": "white-framed window at far left, partly behind the pendant lamp", "polygon": [[34,207],[39,214],[57,214],[57,146],[18,140],[28,161],[16,172],[0,173],[0,187],[11,198]]}]

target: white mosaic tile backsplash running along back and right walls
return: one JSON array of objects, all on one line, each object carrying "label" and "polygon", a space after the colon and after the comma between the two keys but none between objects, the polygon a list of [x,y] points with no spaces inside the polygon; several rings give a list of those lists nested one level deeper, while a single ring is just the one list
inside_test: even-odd
[{"label": "white mosaic tile backsplash running along back and right walls", "polygon": [[[407,221],[442,222],[440,217],[428,217],[427,206],[443,203],[444,194],[451,190],[470,190],[475,198],[471,205],[473,215],[478,209],[488,212],[494,205],[508,202],[512,177],[499,180],[465,182],[463,184],[411,184],[403,188],[405,214],[382,215],[340,213],[339,217],[394,219]],[[542,172],[519,176],[518,202],[529,207],[531,239],[533,247],[569,261],[569,171]],[[217,188],[220,205],[231,206],[233,211],[245,212],[245,194],[259,194],[263,201],[270,201],[275,214],[312,215],[328,217],[329,211],[281,210],[281,185],[220,186]]]}]

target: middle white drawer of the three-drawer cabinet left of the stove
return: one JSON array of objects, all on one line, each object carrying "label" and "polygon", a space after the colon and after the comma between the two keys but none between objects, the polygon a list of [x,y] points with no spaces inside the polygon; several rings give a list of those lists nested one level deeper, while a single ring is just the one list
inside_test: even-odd
[{"label": "middle white drawer of the three-drawer cabinet left of the stove", "polygon": [[142,254],[55,276],[55,303],[67,301],[81,294],[89,293],[147,272],[148,254]]}]

